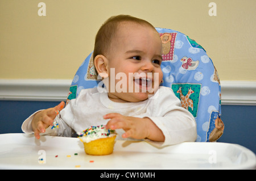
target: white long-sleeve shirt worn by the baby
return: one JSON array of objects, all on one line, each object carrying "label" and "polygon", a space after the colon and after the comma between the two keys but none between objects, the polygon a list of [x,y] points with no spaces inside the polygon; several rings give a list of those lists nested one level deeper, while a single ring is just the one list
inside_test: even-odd
[{"label": "white long-sleeve shirt worn by the baby", "polygon": [[[23,122],[23,132],[33,133],[31,121],[35,113]],[[59,128],[48,127],[44,134],[71,137],[73,133],[81,132],[92,125],[105,125],[109,120],[103,119],[103,116],[107,113],[149,117],[164,134],[165,141],[159,142],[159,146],[195,141],[197,137],[193,115],[181,107],[180,100],[171,88],[162,86],[150,99],[137,103],[113,102],[108,98],[108,93],[99,87],[81,90],[77,98],[72,99],[60,111],[60,116],[55,118]],[[116,131],[117,139],[123,139],[121,136],[125,131]]]}]

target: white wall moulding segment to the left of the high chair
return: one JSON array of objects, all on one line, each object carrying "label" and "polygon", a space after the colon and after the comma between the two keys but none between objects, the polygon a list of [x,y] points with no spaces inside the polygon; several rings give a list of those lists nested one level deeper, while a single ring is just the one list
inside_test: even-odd
[{"label": "white wall moulding segment to the left of the high chair", "polygon": [[72,79],[0,79],[0,100],[66,100]]}]

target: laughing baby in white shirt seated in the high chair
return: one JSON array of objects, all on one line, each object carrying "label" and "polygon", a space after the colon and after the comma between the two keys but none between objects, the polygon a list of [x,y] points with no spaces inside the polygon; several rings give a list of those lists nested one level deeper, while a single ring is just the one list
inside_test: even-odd
[{"label": "laughing baby in white shirt seated in the high chair", "polygon": [[[119,139],[148,139],[161,146],[196,140],[193,115],[181,108],[170,87],[159,86],[162,41],[150,23],[129,15],[109,18],[96,35],[93,58],[105,88],[81,90],[65,108],[61,102],[35,112],[24,121],[23,132],[38,139],[42,134],[71,137],[105,124]],[[53,121],[59,128],[49,127]]]}]

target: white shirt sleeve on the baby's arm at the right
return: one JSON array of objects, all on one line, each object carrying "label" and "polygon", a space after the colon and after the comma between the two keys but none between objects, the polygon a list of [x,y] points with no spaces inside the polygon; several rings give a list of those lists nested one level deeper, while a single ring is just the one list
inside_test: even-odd
[{"label": "white shirt sleeve on the baby's arm at the right", "polygon": [[[154,98],[154,96],[156,96]],[[168,87],[159,89],[158,95],[154,95],[149,110],[149,117],[164,134],[164,142],[150,143],[156,146],[179,144],[185,141],[195,141],[197,137],[196,121],[193,115],[181,107],[180,100]]]}]

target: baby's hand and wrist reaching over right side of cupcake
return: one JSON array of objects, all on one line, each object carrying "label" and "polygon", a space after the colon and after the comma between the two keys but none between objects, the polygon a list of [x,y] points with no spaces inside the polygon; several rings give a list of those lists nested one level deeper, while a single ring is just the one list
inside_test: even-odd
[{"label": "baby's hand and wrist reaching over right side of cupcake", "polygon": [[109,113],[103,117],[110,119],[106,124],[106,129],[123,129],[125,131],[122,135],[123,138],[148,138],[153,141],[164,141],[162,131],[148,117],[123,116],[119,113]]}]

